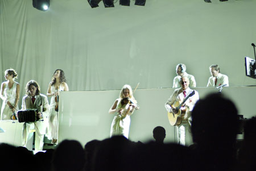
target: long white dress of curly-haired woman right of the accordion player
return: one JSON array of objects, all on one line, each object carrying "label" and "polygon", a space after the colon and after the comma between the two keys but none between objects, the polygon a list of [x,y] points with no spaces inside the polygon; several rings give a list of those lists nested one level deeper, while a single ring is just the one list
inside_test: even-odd
[{"label": "long white dress of curly-haired woman right of the accordion player", "polygon": [[[57,90],[55,89],[54,85],[51,86],[51,92],[55,93]],[[59,91],[64,91],[64,86],[60,86]],[[57,139],[58,137],[58,128],[59,128],[59,119],[58,119],[58,113],[55,111],[55,96],[53,95],[51,97],[51,103],[50,103],[50,114],[49,114],[49,124],[47,127],[47,134],[49,140]]]}]

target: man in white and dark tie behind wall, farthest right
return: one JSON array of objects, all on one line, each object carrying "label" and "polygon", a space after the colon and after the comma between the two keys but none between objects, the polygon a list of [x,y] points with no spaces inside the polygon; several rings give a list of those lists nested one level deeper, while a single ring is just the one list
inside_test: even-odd
[{"label": "man in white and dark tie behind wall, farthest right", "polygon": [[208,80],[208,87],[217,87],[221,85],[229,86],[229,78],[228,76],[220,73],[220,66],[213,64],[210,65],[209,69],[212,77]]}]

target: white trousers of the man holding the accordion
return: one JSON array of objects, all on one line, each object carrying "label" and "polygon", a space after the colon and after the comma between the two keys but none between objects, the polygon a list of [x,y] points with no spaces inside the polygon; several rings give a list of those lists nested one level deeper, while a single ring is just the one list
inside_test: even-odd
[{"label": "white trousers of the man holding the accordion", "polygon": [[35,151],[42,151],[44,146],[44,135],[41,135],[35,123],[24,123],[22,129],[22,145],[32,150],[33,134],[35,131]]}]

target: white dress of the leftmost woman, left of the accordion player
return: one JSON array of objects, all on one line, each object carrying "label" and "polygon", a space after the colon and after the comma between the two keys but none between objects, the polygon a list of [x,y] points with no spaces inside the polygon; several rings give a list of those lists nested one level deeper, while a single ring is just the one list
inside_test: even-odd
[{"label": "white dress of the leftmost woman, left of the accordion player", "polygon": [[[14,81],[13,87],[9,88],[8,84],[5,86],[5,90],[3,90],[3,96],[6,97],[6,101],[3,101],[2,108],[1,108],[1,120],[9,120],[11,119],[11,115],[13,115],[13,111],[7,105],[7,101],[14,106],[15,103],[15,96],[16,96],[16,86],[17,82]],[[18,106],[16,107],[17,110]],[[15,111],[16,113],[16,111]]]}]

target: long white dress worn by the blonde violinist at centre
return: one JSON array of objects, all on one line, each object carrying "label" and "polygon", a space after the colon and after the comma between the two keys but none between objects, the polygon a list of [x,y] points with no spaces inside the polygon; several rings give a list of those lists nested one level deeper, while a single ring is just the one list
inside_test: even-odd
[{"label": "long white dress worn by the blonde violinist at centre", "polygon": [[[116,109],[123,109],[124,113],[127,111],[127,105],[121,106],[121,98],[118,99]],[[111,124],[110,137],[115,135],[123,135],[128,139],[130,122],[130,115],[122,116],[121,114],[117,113],[117,115],[114,116]]]}]

